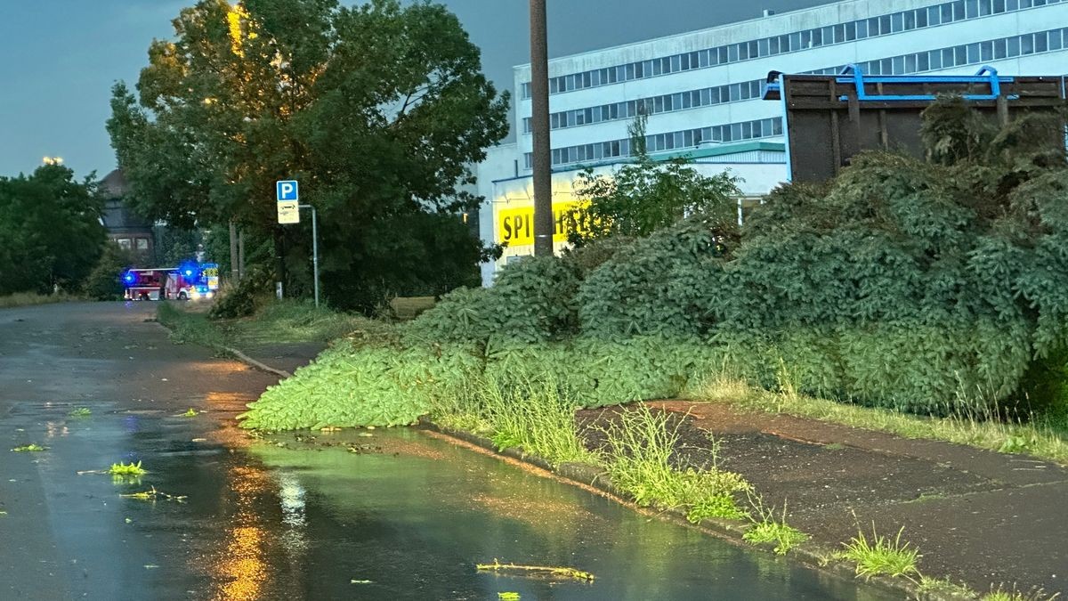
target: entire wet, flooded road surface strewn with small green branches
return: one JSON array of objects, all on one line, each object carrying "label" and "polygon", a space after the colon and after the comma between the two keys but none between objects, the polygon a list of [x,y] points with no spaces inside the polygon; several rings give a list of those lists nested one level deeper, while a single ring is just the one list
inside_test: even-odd
[{"label": "entire wet, flooded road surface strewn with small green branches", "polygon": [[[883,598],[426,432],[251,438],[233,416],[270,379],[170,345],[148,309],[0,311],[0,598]],[[121,496],[153,490],[186,498]],[[475,570],[494,559],[597,580]]]}]

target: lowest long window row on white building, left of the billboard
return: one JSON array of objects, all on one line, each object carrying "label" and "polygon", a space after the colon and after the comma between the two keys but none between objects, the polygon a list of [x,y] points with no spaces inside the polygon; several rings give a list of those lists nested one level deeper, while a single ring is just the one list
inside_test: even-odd
[{"label": "lowest long window row on white building, left of the billboard", "polygon": [[[684,129],[645,137],[646,152],[664,152],[676,149],[694,148],[702,142],[734,142],[783,135],[783,120],[774,117],[696,129]],[[552,165],[568,165],[630,156],[630,140],[612,140],[592,144],[580,144],[552,150]],[[523,155],[527,169],[533,166],[533,155]]]}]

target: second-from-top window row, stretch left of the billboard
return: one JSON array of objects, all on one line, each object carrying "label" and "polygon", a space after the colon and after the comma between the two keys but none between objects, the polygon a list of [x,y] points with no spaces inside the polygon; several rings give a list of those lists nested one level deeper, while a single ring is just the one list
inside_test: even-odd
[{"label": "second-from-top window row, stretch left of the billboard", "polygon": [[[754,79],[742,83],[728,83],[726,86],[664,94],[638,101],[565,110],[549,115],[549,124],[552,129],[562,129],[564,127],[576,127],[578,125],[588,125],[602,121],[633,119],[640,112],[644,114],[658,114],[661,112],[686,110],[688,108],[759,98],[763,82],[763,79]],[[523,118],[523,134],[530,133],[531,118],[525,117]]]}]

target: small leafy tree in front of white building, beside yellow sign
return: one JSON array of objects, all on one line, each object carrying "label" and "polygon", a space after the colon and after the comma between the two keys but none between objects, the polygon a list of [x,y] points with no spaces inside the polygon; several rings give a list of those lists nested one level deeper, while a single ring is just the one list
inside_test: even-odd
[{"label": "small leafy tree in front of white building, beside yellow sign", "polygon": [[585,232],[571,235],[584,244],[608,236],[645,237],[688,215],[701,214],[721,224],[734,220],[733,199],[741,195],[739,180],[724,171],[712,176],[698,173],[686,157],[656,161],[646,151],[646,115],[639,113],[628,128],[633,163],[612,175],[579,175],[576,194],[588,199],[575,218]]}]

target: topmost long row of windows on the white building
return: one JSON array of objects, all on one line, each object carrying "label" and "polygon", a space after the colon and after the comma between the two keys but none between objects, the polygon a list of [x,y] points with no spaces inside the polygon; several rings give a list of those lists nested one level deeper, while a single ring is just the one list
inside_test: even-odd
[{"label": "topmost long row of windows on the white building", "polygon": [[[923,9],[806,29],[786,35],[764,37],[694,52],[553,77],[549,79],[549,93],[559,94],[572,90],[609,86],[618,81],[630,81],[748,59],[796,52],[829,44],[852,42],[1061,2],[1068,2],[1068,0],[955,0]],[[530,98],[530,83],[523,83],[521,88],[522,97]]]}]

